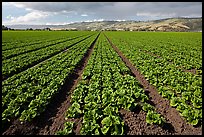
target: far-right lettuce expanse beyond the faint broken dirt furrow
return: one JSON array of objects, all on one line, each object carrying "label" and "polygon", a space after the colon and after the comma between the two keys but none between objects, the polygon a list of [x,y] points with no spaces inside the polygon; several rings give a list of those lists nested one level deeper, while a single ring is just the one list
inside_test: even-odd
[{"label": "far-right lettuce expanse beyond the faint broken dirt furrow", "polygon": [[113,35],[122,43],[125,38],[136,45],[138,49],[156,54],[176,66],[188,70],[197,69],[202,73],[202,37],[199,33],[114,32]]}]

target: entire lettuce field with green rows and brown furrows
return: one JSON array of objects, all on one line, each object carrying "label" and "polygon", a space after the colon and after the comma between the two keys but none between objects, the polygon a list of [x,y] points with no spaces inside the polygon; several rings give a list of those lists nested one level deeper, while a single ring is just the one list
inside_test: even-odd
[{"label": "entire lettuce field with green rows and brown furrows", "polygon": [[202,33],[2,31],[2,135],[201,135]]}]

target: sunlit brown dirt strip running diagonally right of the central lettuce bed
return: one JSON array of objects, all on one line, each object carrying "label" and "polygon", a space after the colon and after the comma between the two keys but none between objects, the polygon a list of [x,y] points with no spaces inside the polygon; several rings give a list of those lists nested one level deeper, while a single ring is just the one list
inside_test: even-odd
[{"label": "sunlit brown dirt strip running diagonally right of the central lettuce bed", "polygon": [[[125,64],[129,67],[129,69],[135,75],[136,79],[143,85],[146,92],[148,92],[150,101],[152,102],[152,104],[154,104],[156,111],[165,117],[169,125],[167,128],[171,129],[171,131],[173,131],[174,134],[178,134],[178,135],[187,135],[187,134],[188,135],[189,134],[190,135],[201,135],[202,128],[201,127],[196,128],[188,124],[180,116],[179,112],[175,108],[172,108],[170,106],[169,100],[162,98],[162,96],[157,92],[156,88],[150,85],[150,83],[145,79],[145,77],[132,65],[132,63],[122,54],[122,52],[115,45],[113,45],[111,40],[108,37],[106,38],[108,39],[113,49],[118,53],[121,59],[125,62]],[[129,127],[129,128],[132,129],[132,127]]]}]

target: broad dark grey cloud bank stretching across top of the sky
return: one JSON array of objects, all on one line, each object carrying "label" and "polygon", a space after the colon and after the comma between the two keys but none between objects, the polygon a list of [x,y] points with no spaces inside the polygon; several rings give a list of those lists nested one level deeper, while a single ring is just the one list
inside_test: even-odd
[{"label": "broad dark grey cloud bank stretching across top of the sky", "polygon": [[[142,15],[202,16],[201,2],[12,2],[16,7],[44,12],[84,12],[99,18]],[[173,12],[173,14],[172,14]],[[84,14],[86,15],[86,14]],[[147,15],[147,14],[146,14]]]}]

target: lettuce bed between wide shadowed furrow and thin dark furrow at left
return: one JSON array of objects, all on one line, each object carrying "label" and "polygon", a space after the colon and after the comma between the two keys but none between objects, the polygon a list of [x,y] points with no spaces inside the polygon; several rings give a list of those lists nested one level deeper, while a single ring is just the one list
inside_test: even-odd
[{"label": "lettuce bed between wide shadowed furrow and thin dark furrow at left", "polygon": [[20,121],[31,121],[40,115],[73,73],[95,38],[96,35],[89,37],[70,50],[3,81],[3,125],[18,117]]}]

